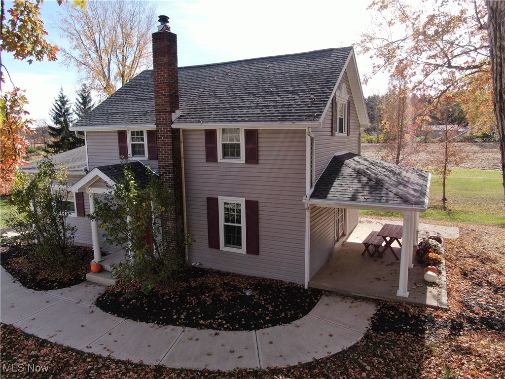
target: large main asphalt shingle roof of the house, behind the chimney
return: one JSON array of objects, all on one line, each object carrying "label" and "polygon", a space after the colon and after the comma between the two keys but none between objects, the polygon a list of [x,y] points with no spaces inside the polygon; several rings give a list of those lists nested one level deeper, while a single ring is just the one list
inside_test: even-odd
[{"label": "large main asphalt shingle roof of the house, behind the chimney", "polygon": [[[314,122],[352,48],[179,68],[176,124]],[[146,70],[72,128],[155,125],[153,70]]]}]

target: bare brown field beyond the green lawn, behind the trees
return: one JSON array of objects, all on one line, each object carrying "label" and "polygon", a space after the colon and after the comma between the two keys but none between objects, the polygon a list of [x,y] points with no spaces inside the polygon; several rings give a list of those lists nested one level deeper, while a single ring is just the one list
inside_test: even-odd
[{"label": "bare brown field beyond the green lawn, behind the trees", "polygon": [[[361,154],[366,157],[380,159],[385,151],[386,144],[361,144]],[[412,157],[416,167],[428,167],[430,151],[435,146],[432,144],[418,143],[420,152]],[[459,143],[463,146],[467,159],[462,162],[460,168],[473,170],[501,170],[500,150],[498,143]]]}]

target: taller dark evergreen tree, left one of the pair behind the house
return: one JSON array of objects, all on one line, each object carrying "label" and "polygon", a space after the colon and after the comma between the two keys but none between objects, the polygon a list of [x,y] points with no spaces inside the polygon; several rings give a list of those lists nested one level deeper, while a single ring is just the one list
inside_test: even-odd
[{"label": "taller dark evergreen tree, left one of the pair behind the house", "polygon": [[49,115],[51,115],[54,126],[47,125],[47,128],[54,141],[47,144],[46,152],[58,154],[84,145],[84,139],[69,130],[70,125],[74,122],[74,113],[70,100],[63,93],[63,88],[60,89]]}]

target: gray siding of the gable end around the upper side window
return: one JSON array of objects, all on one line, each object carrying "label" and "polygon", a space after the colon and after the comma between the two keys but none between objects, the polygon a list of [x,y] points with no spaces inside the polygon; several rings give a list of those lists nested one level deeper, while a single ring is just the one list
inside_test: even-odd
[{"label": "gray siding of the gable end around the upper side window", "polygon": [[356,113],[356,107],[354,105],[354,100],[352,98],[352,92],[346,72],[344,72],[341,82],[345,83],[347,87],[347,94],[349,95],[350,112],[348,111],[348,115],[350,116],[350,135],[331,135],[332,109],[330,106],[323,119],[322,128],[311,129],[312,133],[316,136],[316,181],[323,173],[326,165],[335,153],[360,153],[360,122],[358,120],[358,113]]}]

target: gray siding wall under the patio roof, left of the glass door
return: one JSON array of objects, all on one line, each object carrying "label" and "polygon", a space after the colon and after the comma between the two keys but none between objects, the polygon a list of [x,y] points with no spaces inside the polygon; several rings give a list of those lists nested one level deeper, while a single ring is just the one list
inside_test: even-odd
[{"label": "gray siding wall under the patio roof, left of the glass door", "polygon": [[311,208],[310,277],[328,260],[335,247],[335,208]]}]

